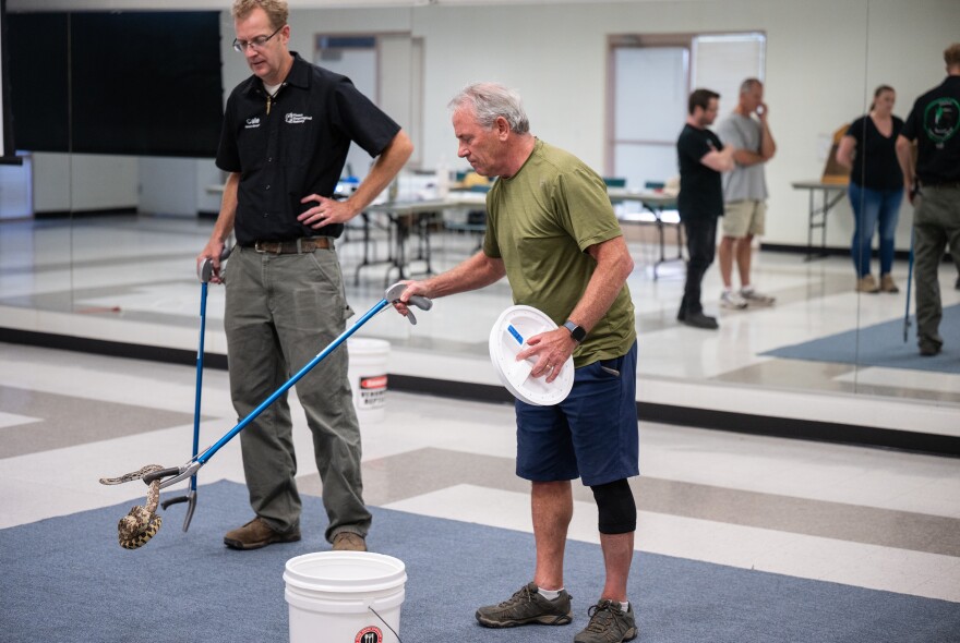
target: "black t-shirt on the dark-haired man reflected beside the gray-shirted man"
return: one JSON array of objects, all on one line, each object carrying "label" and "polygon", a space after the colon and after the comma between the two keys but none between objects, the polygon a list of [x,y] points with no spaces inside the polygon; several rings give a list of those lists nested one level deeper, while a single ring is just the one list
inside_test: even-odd
[{"label": "black t-shirt on the dark-haired man reflected beside the gray-shirted man", "polygon": [[700,162],[712,150],[723,149],[720,138],[710,130],[686,124],[676,141],[680,161],[680,194],[676,208],[682,220],[709,219],[723,216],[723,187],[720,172]]}]

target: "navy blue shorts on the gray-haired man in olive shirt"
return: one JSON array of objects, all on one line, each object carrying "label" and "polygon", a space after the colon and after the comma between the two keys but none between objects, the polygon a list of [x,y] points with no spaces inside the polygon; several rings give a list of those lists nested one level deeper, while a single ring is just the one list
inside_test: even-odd
[{"label": "navy blue shorts on the gray-haired man in olive shirt", "polygon": [[602,485],[639,474],[637,344],[615,360],[577,368],[566,400],[517,400],[517,475]]}]

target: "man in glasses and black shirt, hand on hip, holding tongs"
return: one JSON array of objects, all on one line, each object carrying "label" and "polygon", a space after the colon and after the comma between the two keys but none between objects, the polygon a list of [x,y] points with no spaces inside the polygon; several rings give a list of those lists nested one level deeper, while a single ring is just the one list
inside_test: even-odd
[{"label": "man in glasses and black shirt, hand on hip, holding tongs", "polygon": [[[284,0],[236,0],[233,48],[253,75],[227,101],[217,167],[229,172],[209,242],[215,282],[224,281],[230,392],[249,415],[339,336],[352,314],[334,250],[344,223],[393,180],[412,151],[409,137],[350,81],[287,49]],[[376,162],[344,202],[333,195],[350,142]],[[239,246],[221,276],[232,232]],[[313,433],[334,549],[365,550],[360,428],[347,379],[346,345],[297,384]],[[277,399],[240,435],[253,520],[224,543],[255,549],[300,539],[290,409]]]}]

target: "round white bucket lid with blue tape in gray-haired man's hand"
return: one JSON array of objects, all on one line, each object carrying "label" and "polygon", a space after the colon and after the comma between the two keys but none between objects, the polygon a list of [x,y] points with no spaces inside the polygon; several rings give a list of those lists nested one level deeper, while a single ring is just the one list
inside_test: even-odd
[{"label": "round white bucket lid with blue tape in gray-haired man's hand", "polygon": [[517,362],[526,340],[556,328],[553,319],[532,306],[511,306],[490,331],[490,360],[500,381],[515,398],[536,407],[552,407],[564,401],[574,386],[574,359],[564,362],[556,379],[530,377],[536,359]]}]

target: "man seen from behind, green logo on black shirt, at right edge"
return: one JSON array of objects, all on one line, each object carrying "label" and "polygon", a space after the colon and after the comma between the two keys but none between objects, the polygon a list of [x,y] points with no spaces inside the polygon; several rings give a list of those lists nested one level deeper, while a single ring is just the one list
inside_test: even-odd
[{"label": "man seen from behind, green logo on black shirt, at right edge", "polygon": [[944,344],[938,272],[947,245],[960,266],[960,43],[947,47],[944,61],[947,78],[916,99],[897,137],[897,158],[914,205],[916,342],[926,356]]}]

